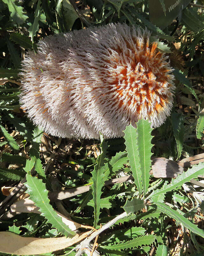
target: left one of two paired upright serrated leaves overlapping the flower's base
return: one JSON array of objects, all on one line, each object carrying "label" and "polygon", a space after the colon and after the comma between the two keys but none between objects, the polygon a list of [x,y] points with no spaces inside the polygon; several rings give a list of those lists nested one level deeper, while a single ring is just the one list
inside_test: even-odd
[{"label": "left one of two paired upright serrated leaves overlapping the flower's base", "polygon": [[129,164],[133,177],[135,179],[135,185],[139,193],[142,193],[142,171],[139,162],[139,150],[137,144],[137,132],[136,129],[130,124],[126,127],[125,131],[125,145],[126,151],[128,152]]}]

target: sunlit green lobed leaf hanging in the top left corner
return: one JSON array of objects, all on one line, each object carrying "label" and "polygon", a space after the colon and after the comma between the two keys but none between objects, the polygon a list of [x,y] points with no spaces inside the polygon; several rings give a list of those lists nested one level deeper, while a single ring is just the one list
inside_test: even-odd
[{"label": "sunlit green lobed leaf hanging in the top left corner", "polygon": [[17,5],[15,0],[2,0],[9,7],[9,12],[11,14],[11,19],[18,25],[21,25],[27,20],[28,16],[25,15],[26,12],[23,11],[23,7]]}]

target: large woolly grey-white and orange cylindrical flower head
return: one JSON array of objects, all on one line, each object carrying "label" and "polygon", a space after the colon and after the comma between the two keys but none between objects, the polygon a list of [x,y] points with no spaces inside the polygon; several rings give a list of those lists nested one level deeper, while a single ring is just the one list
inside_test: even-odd
[{"label": "large woolly grey-white and orange cylindrical flower head", "polygon": [[123,136],[138,119],[170,115],[173,75],[150,33],[109,24],[48,36],[22,63],[21,106],[34,124],[60,137]]}]

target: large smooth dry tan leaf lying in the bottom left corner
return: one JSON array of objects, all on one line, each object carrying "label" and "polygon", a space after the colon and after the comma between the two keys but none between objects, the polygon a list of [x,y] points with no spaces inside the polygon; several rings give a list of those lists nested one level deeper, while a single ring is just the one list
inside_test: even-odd
[{"label": "large smooth dry tan leaf lying in the bottom left corner", "polygon": [[72,238],[36,238],[18,236],[12,232],[0,232],[0,252],[17,255],[36,255],[62,250],[86,238],[90,231]]}]

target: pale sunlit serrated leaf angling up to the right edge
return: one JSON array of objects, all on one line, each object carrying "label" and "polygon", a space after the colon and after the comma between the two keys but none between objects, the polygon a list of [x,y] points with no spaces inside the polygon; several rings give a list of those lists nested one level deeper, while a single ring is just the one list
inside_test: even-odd
[{"label": "pale sunlit serrated leaf angling up to the right edge", "polygon": [[154,201],[154,198],[156,198],[157,196],[165,194],[168,191],[172,191],[173,189],[182,186],[185,182],[189,182],[191,179],[197,178],[198,175],[203,175],[203,173],[204,163],[193,165],[192,168],[188,168],[186,172],[178,175],[176,179],[172,179],[171,183],[167,184],[167,182],[165,182],[162,188],[153,191],[152,194],[149,195],[147,198],[152,198],[152,200]]}]

